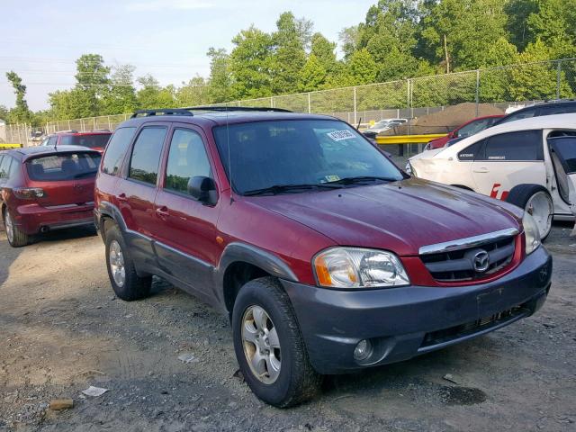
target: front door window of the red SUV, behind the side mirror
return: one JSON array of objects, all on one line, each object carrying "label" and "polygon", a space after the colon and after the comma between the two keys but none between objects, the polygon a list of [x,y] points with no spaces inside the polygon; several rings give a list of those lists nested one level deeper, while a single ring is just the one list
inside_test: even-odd
[{"label": "front door window of the red SUV, behind the side mirror", "polygon": [[187,193],[188,181],[197,175],[211,177],[211,167],[200,135],[177,129],[172,136],[166,166],[165,189]]}]

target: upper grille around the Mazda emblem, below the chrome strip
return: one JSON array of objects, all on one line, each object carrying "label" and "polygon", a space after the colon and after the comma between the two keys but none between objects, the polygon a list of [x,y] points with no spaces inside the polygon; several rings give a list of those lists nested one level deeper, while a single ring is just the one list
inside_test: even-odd
[{"label": "upper grille around the Mazda emblem, below the chrome strip", "polygon": [[[464,282],[482,279],[508,266],[514,257],[516,238],[497,238],[482,244],[421,255],[428,271],[438,282]],[[484,270],[474,266],[474,256],[485,251],[489,265]]]}]

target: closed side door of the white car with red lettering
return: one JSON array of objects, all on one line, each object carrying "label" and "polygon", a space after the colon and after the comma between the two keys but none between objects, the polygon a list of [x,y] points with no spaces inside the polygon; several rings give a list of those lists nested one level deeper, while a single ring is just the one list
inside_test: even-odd
[{"label": "closed side door of the white car with red lettering", "polygon": [[506,200],[518,184],[542,184],[546,177],[542,130],[519,130],[483,140],[472,165],[474,190]]}]

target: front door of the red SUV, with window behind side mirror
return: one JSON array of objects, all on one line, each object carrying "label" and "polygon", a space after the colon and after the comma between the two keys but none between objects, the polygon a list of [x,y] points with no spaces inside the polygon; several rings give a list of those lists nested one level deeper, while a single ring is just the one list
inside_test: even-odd
[{"label": "front door of the red SUV, with window behind side mirror", "polygon": [[[201,130],[175,125],[167,148],[166,170],[156,197],[162,229],[156,250],[159,266],[196,293],[211,297],[205,288],[221,253],[216,222],[220,205],[206,205],[188,193],[194,176],[213,178],[209,152]],[[210,299],[208,299],[210,301]]]}]

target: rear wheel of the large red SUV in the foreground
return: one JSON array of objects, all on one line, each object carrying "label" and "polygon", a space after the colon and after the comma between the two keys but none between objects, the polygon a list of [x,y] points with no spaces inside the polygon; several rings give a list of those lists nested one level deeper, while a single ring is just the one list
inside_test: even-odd
[{"label": "rear wheel of the large red SUV in the foreground", "polygon": [[130,249],[116,225],[106,230],[106,268],[112,289],[121,300],[132,302],[150,294],[152,276],[140,277],[136,273]]}]

